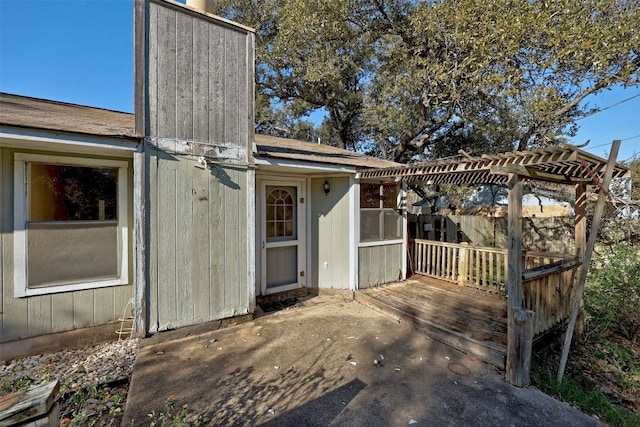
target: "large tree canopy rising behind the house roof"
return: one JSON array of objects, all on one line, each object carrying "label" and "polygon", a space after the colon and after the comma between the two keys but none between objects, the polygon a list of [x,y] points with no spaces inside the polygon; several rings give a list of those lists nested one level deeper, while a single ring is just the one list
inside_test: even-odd
[{"label": "large tree canopy rising behind the house roof", "polygon": [[398,161],[562,142],[585,98],[640,83],[636,1],[209,4],[257,29],[259,131],[322,111],[323,141]]}]

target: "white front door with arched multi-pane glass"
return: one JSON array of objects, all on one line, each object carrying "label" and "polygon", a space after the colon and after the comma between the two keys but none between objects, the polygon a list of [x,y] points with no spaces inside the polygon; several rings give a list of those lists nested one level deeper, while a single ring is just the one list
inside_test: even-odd
[{"label": "white front door with arched multi-pane glass", "polygon": [[304,287],[304,181],[262,181],[262,294]]}]

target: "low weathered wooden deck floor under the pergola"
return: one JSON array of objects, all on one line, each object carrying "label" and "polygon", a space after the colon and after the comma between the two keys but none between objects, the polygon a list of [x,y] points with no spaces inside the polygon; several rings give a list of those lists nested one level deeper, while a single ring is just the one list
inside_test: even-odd
[{"label": "low weathered wooden deck floor under the pergola", "polygon": [[404,282],[359,290],[356,300],[504,369],[507,301],[498,295],[414,275]]}]

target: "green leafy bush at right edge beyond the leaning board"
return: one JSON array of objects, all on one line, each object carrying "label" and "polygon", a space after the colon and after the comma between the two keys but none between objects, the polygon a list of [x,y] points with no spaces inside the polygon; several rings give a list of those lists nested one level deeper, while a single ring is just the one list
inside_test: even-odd
[{"label": "green leafy bush at right edge beyond the leaning board", "polygon": [[640,247],[623,241],[594,257],[585,309],[597,330],[613,329],[640,342]]}]

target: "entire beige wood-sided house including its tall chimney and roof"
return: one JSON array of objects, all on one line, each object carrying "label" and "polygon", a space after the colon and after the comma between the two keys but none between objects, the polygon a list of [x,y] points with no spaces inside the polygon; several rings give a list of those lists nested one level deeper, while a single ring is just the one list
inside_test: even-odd
[{"label": "entire beige wood-sided house including its tall chimney and roof", "polygon": [[113,334],[130,301],[144,336],[405,277],[402,189],[356,179],[394,163],[254,135],[253,30],[135,16],[133,115],[0,95],[0,358]]}]

